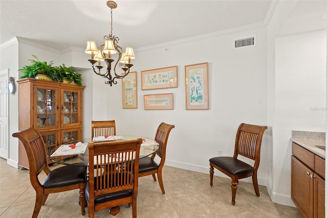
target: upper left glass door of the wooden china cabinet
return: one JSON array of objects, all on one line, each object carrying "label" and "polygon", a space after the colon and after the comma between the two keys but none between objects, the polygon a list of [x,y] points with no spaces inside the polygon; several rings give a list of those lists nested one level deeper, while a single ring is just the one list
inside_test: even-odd
[{"label": "upper left glass door of the wooden china cabinet", "polygon": [[34,126],[40,129],[58,126],[58,113],[56,113],[58,89],[37,87],[36,90],[36,108],[34,110],[37,116]]}]

